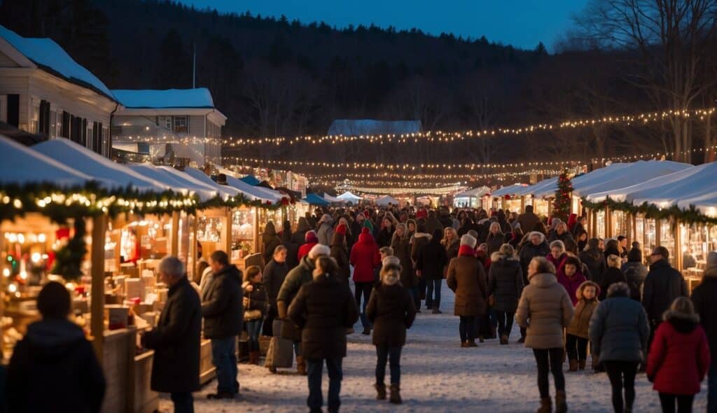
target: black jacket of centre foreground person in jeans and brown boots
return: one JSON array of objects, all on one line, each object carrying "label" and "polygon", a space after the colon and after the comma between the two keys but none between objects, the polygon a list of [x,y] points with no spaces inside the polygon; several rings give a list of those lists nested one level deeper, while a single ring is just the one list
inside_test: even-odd
[{"label": "black jacket of centre foreground person in jeans and brown boots", "polygon": [[406,329],[416,318],[416,307],[400,283],[377,283],[366,305],[366,317],[374,325],[374,346],[402,347],[406,344]]}]

